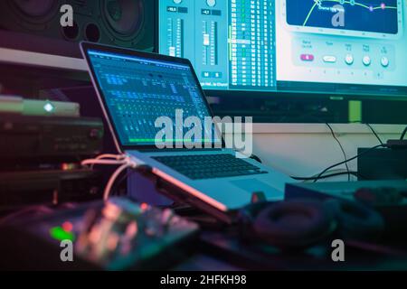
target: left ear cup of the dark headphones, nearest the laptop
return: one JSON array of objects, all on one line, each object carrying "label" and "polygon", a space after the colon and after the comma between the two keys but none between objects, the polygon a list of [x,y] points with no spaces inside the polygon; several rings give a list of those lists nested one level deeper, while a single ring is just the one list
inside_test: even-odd
[{"label": "left ear cup of the dark headphones, nearest the laptop", "polygon": [[325,204],[311,200],[272,204],[260,211],[253,224],[256,236],[283,249],[309,247],[334,228],[333,215]]}]

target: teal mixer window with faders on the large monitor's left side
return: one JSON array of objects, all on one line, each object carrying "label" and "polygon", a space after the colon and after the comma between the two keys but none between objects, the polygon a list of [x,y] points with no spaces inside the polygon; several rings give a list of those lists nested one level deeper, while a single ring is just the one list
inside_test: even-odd
[{"label": "teal mixer window with faders on the large monitor's left side", "polygon": [[276,89],[274,1],[255,2],[160,1],[160,52],[193,61],[204,89]]}]

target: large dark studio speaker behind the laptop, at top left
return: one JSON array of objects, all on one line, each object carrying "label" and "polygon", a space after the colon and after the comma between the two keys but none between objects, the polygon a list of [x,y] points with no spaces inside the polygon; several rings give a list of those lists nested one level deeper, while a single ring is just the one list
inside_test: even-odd
[{"label": "large dark studio speaker behind the laptop, at top left", "polygon": [[[155,0],[2,0],[0,47],[80,57],[89,41],[151,51]],[[73,8],[73,26],[62,27],[62,5]]]}]

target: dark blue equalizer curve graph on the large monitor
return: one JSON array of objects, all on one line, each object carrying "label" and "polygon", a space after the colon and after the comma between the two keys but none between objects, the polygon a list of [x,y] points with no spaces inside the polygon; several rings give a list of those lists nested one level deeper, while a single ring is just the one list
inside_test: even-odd
[{"label": "dark blue equalizer curve graph on the large monitor", "polygon": [[402,34],[402,0],[284,0],[282,15],[293,31],[372,38]]}]

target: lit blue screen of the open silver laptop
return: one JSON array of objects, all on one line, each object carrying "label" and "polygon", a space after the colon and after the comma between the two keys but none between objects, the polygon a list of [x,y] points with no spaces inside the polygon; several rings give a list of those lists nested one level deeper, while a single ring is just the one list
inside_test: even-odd
[{"label": "lit blue screen of the open silver laptop", "polygon": [[[221,142],[213,128],[204,129],[212,115],[190,65],[97,50],[88,56],[122,145],[154,145],[157,137],[166,144]],[[188,136],[197,126],[188,117],[201,120],[201,135]]]}]

